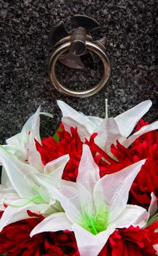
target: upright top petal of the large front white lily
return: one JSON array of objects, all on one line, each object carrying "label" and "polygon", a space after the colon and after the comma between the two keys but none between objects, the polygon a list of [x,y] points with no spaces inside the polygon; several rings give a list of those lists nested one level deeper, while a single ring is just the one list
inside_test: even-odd
[{"label": "upright top petal of the large front white lily", "polygon": [[89,146],[83,145],[76,183],[82,184],[92,194],[93,188],[99,179],[99,167],[95,164]]}]

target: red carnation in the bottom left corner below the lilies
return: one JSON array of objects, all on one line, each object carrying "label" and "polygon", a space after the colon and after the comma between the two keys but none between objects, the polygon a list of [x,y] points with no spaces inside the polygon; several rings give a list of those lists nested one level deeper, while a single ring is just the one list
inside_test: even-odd
[{"label": "red carnation in the bottom left corner below the lilies", "polygon": [[44,232],[30,238],[31,230],[39,222],[39,218],[33,217],[4,227],[0,233],[0,255],[79,256],[73,232]]}]

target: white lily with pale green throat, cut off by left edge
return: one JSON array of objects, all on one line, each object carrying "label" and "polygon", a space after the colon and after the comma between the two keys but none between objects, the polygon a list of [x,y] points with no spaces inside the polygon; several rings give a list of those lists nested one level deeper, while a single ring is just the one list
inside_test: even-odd
[{"label": "white lily with pale green throat, cut off by left edge", "polygon": [[[68,155],[59,157],[49,162],[44,167],[44,173],[56,181],[60,180],[63,169],[68,162]],[[0,220],[0,230],[12,222],[28,218],[26,210],[36,213],[42,213],[48,216],[56,211],[63,211],[59,203],[50,197],[45,187],[39,184],[36,174],[39,173],[35,167],[21,162],[10,152],[0,146],[0,161],[9,178],[9,187],[7,184],[1,184],[0,204],[4,214]],[[4,209],[3,205],[7,204]]]}]

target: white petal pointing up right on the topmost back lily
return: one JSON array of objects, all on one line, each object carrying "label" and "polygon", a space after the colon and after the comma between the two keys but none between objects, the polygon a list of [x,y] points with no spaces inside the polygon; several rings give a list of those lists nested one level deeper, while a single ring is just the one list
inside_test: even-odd
[{"label": "white petal pointing up right on the topmost back lily", "polygon": [[133,131],[135,124],[141,119],[141,117],[151,108],[151,100],[145,100],[134,108],[127,110],[126,112],[115,117],[116,124],[119,127],[119,131],[122,136],[126,138]]}]

